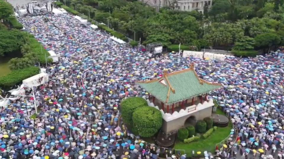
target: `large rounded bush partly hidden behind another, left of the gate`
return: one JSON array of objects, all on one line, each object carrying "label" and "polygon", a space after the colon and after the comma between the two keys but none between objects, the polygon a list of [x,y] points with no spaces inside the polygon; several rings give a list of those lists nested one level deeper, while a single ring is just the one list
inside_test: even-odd
[{"label": "large rounded bush partly hidden behind another, left of the gate", "polygon": [[133,112],[139,108],[148,105],[147,101],[141,97],[131,97],[121,102],[121,116],[126,124],[132,125]]}]

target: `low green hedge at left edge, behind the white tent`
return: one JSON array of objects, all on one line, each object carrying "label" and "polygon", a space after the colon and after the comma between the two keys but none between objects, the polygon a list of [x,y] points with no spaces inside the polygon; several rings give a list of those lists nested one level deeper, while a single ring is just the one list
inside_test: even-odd
[{"label": "low green hedge at left edge, behind the white tent", "polygon": [[28,67],[24,69],[18,69],[10,72],[9,74],[0,77],[0,87],[8,88],[12,87],[18,83],[21,83],[22,80],[29,78],[38,74],[40,69],[38,67]]}]

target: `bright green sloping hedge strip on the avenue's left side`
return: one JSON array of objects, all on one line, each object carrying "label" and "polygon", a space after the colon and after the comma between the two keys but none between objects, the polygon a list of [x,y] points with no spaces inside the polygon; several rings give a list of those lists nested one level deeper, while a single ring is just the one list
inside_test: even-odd
[{"label": "bright green sloping hedge strip on the avenue's left side", "polygon": [[42,53],[41,53],[41,43],[38,42],[35,38],[30,37],[30,43],[29,43],[31,52],[34,52],[38,56],[38,61],[41,64],[45,64],[45,54],[47,58],[47,63],[51,63],[53,60],[51,58],[48,58],[50,54],[44,47],[42,46]]}]

